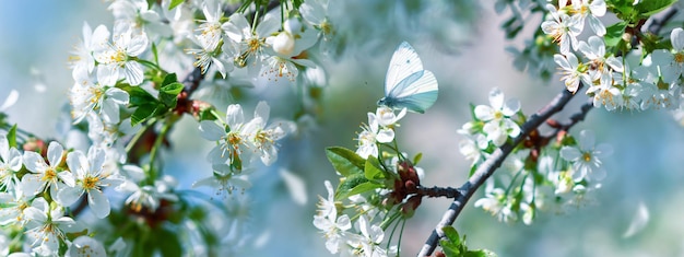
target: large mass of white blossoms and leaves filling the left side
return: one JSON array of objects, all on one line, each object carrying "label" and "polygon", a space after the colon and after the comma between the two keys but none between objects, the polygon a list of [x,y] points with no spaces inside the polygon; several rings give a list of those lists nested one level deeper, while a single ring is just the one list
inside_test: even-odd
[{"label": "large mass of white blossoms and leaves filling the left side", "polygon": [[[279,141],[296,130],[293,121],[269,120],[263,101],[246,119],[243,105],[229,97],[205,100],[243,82],[252,87],[326,83],[311,58],[319,56],[315,49],[326,55],[332,44],[327,1],[273,3],[113,0],[111,26],[84,23],[69,58],[74,84],[63,140],[48,143],[10,129],[0,113],[0,131],[7,133],[0,138],[0,255],[168,250],[158,248],[168,242],[142,235],[150,230],[163,240],[180,241],[177,233],[185,233],[191,240],[182,242],[184,252],[223,253],[227,247],[205,238],[228,234],[235,222],[220,225],[198,214],[205,210],[192,209],[200,203],[164,174],[161,152],[176,121],[189,114],[199,125],[197,136],[215,143],[208,155],[212,175],[193,187],[246,189],[257,160],[264,165],[278,160]],[[0,112],[16,98],[10,94]],[[229,106],[221,114],[213,104]],[[96,219],[79,219],[84,208]],[[113,224],[127,225],[109,233]]]}]

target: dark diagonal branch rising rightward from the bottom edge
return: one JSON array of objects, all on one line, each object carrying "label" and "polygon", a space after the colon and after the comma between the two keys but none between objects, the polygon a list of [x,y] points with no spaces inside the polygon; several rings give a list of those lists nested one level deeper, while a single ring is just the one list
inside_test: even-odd
[{"label": "dark diagonal branch rising rightward from the bottom edge", "polygon": [[[581,87],[582,85],[580,84],[578,90],[581,90]],[[480,164],[475,173],[458,189],[460,195],[453,200],[453,202],[451,202],[449,210],[444,213],[441,220],[437,223],[437,226],[435,226],[435,230],[433,230],[433,233],[429,235],[429,238],[427,238],[417,256],[429,256],[433,254],[437,247],[439,238],[444,237],[441,227],[453,224],[453,221],[456,221],[456,218],[461,213],[468,200],[470,200],[477,188],[480,188],[480,186],[482,186],[482,184],[484,184],[484,182],[492,176],[492,174],[494,174],[496,168],[502,165],[506,156],[510,154],[516,145],[522,142],[522,140],[524,140],[530,132],[544,124],[549,118],[551,118],[551,116],[561,112],[563,107],[565,107],[565,105],[573,98],[573,96],[575,96],[575,94],[564,89],[563,92],[556,95],[556,97],[554,97],[544,108],[530,116],[530,119],[521,126],[520,136],[515,138],[512,142],[507,142],[496,149],[487,160]],[[589,112],[589,109],[591,108],[588,108],[582,113],[586,115],[586,112]],[[583,115],[581,117],[583,119]]]}]

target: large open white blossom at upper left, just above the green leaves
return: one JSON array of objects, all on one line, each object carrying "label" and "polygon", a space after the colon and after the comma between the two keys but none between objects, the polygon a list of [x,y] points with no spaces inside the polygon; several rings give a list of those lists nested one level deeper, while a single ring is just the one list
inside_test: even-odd
[{"label": "large open white blossom at upper left, just above the green leaves", "polygon": [[[103,33],[103,36],[108,37],[109,32]],[[114,85],[120,77],[123,77],[131,85],[141,84],[143,67],[134,60],[134,57],[140,56],[148,48],[148,35],[144,32],[133,33],[127,23],[117,23],[114,26],[111,39],[111,44],[101,43],[96,46],[94,56],[99,62],[97,81],[103,85]]]}]

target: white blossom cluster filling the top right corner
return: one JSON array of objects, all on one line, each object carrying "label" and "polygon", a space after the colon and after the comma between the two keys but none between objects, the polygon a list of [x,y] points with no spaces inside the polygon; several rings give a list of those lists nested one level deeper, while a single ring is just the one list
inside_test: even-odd
[{"label": "white blossom cluster filling the top right corner", "polygon": [[[568,91],[577,92],[580,82],[597,107],[608,110],[648,108],[676,109],[682,98],[684,71],[684,31],[674,28],[669,39],[671,48],[648,45],[646,38],[632,48],[623,39],[629,33],[625,22],[609,26],[615,35],[606,35],[606,27],[598,19],[606,13],[602,0],[574,0],[570,5],[559,1],[559,7],[547,5],[551,19],[542,23],[544,33],[558,43],[559,54],[554,61],[561,67],[562,80]],[[636,4],[636,3],[635,3]],[[587,42],[578,40],[585,20],[594,35]],[[646,35],[644,36],[646,37]],[[577,54],[581,54],[578,56]]]}]

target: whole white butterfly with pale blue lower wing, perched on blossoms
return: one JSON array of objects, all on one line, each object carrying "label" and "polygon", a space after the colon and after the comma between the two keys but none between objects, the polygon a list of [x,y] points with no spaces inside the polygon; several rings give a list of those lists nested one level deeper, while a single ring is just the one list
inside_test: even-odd
[{"label": "whole white butterfly with pale blue lower wing, perched on blossoms", "polygon": [[437,101],[438,87],[435,74],[423,70],[421,58],[413,47],[402,42],[389,62],[385,78],[385,97],[378,105],[391,108],[406,108],[425,113]]}]

